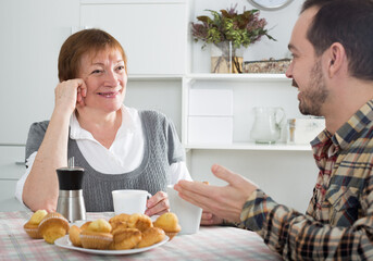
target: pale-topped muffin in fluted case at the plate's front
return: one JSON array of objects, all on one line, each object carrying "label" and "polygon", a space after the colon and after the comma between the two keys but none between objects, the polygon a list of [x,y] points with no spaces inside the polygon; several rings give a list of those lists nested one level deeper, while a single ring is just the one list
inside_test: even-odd
[{"label": "pale-topped muffin in fluted case at the plate's front", "polygon": [[89,223],[86,229],[80,232],[80,243],[84,248],[104,250],[113,240],[111,225],[108,221],[99,219]]}]

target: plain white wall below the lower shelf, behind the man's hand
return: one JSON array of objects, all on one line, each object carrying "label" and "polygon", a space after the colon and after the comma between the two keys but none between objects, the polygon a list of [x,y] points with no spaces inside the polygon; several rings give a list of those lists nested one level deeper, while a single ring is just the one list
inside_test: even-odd
[{"label": "plain white wall below the lower shelf, behind the man's hand", "polygon": [[192,150],[191,167],[196,181],[226,185],[211,173],[214,163],[224,165],[254,182],[276,202],[304,212],[316,182],[318,167],[311,151]]}]

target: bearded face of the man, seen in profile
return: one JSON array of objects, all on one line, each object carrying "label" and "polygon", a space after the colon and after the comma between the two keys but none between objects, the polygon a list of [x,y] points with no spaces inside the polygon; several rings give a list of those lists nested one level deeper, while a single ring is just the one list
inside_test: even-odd
[{"label": "bearded face of the man, seen in profile", "polygon": [[293,61],[286,76],[293,78],[293,86],[299,90],[299,111],[304,115],[322,116],[328,91],[321,58],[316,57],[313,46],[307,39],[309,25],[316,11],[314,8],[304,11],[294,26],[288,46]]}]

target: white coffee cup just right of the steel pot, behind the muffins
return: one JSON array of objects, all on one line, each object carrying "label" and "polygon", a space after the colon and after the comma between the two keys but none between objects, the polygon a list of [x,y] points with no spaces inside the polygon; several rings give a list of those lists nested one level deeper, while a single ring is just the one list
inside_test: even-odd
[{"label": "white coffee cup just right of the steel pot, behind the muffins", "polygon": [[115,215],[125,214],[144,214],[147,208],[147,199],[151,197],[147,190],[121,189],[113,190],[113,204]]}]

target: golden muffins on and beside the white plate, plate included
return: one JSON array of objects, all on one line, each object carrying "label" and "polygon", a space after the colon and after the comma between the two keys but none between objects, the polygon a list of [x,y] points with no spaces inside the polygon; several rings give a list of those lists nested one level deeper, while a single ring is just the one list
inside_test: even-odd
[{"label": "golden muffins on and beside the white plate, plate included", "polygon": [[144,252],[171,240],[181,231],[172,212],[153,221],[146,214],[119,214],[111,217],[69,224],[58,212],[36,211],[24,231],[34,239],[58,247],[96,253],[132,254]]}]

